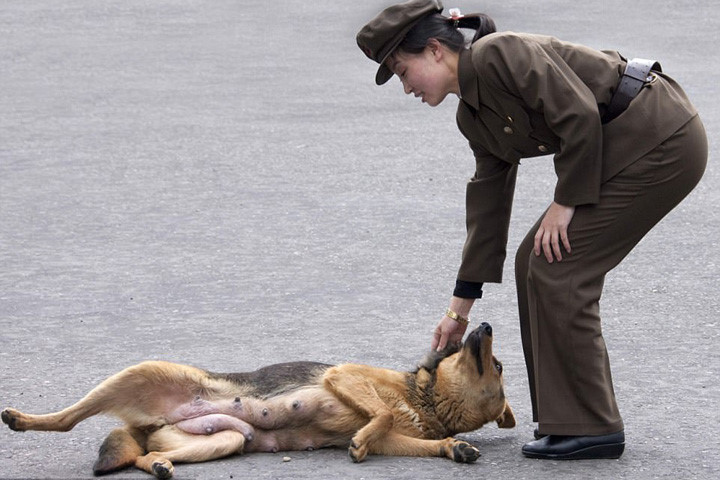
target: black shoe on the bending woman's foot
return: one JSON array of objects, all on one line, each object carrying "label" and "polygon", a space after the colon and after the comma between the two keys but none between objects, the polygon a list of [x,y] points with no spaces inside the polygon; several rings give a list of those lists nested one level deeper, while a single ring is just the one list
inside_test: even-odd
[{"label": "black shoe on the bending woman's foot", "polygon": [[625,450],[625,432],[609,435],[564,436],[548,435],[526,443],[523,455],[548,460],[587,460],[620,458]]}]

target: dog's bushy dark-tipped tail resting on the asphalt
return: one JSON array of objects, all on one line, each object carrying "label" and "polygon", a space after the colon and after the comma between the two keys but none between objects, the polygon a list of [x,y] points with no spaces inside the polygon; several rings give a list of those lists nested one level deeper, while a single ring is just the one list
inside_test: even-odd
[{"label": "dog's bushy dark-tipped tail resting on the asphalt", "polygon": [[136,428],[116,428],[107,436],[93,465],[95,475],[105,475],[135,465],[145,455],[147,435]]}]

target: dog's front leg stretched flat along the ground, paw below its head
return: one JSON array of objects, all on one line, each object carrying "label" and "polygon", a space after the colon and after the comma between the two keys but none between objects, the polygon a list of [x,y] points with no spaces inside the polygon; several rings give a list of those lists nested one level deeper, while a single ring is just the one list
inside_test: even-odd
[{"label": "dog's front leg stretched flat along the ground, paw below its head", "polygon": [[447,457],[458,463],[473,463],[480,457],[480,451],[468,442],[452,437],[442,440],[426,440],[408,437],[395,432],[377,440],[369,453],[407,457]]}]

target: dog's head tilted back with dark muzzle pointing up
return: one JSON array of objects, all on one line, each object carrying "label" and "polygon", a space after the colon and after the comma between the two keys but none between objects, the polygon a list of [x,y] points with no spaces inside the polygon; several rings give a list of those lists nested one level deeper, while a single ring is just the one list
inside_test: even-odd
[{"label": "dog's head tilted back with dark muzzle pointing up", "polygon": [[[493,355],[492,342],[492,327],[483,323],[470,332],[458,351],[446,352],[437,362],[435,391],[444,397],[443,408],[450,410],[446,418],[457,419],[448,425],[456,432],[492,421],[500,428],[515,426],[515,415],[505,398],[502,364]],[[420,368],[426,367],[421,364]]]}]

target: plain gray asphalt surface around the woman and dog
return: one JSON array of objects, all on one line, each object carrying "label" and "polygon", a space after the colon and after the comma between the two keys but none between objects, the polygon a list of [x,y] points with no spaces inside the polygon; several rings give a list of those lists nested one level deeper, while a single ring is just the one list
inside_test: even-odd
[{"label": "plain gray asphalt surface around the woman and dog", "polygon": [[[216,371],[414,365],[454,284],[473,160],[454,98],[432,110],[397,80],[374,85],[354,36],[385,5],[0,2],[0,406],[57,410],[146,359]],[[485,11],[500,29],[658,58],[705,120],[703,182],[606,282],[625,455],[521,456],[533,424],[510,255],[472,320],[495,327],[519,424],[464,435],[483,453],[476,464],[354,465],[328,450],[185,465],[177,478],[720,475],[715,1],[453,6]],[[523,163],[510,251],[554,182],[549,158]],[[0,478],[87,478],[116,423],[0,429]]]}]

